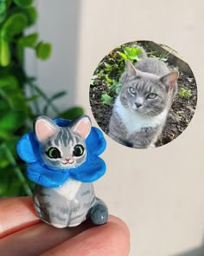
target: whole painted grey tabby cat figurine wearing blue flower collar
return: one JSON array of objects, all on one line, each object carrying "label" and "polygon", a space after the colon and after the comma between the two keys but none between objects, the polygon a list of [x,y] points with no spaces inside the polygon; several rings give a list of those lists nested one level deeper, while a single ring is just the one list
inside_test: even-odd
[{"label": "whole painted grey tabby cat figurine wearing blue flower collar", "polygon": [[92,186],[105,173],[98,157],[104,149],[102,133],[86,115],[72,122],[36,119],[34,133],[22,136],[17,152],[37,183],[34,207],[41,220],[56,227],[77,226],[87,218],[96,225],[107,221],[108,209]]}]

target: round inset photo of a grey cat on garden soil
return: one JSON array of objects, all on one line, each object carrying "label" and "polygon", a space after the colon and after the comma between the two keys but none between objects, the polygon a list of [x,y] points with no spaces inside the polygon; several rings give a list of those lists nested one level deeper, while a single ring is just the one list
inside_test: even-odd
[{"label": "round inset photo of a grey cat on garden soil", "polygon": [[156,148],[173,141],[188,127],[196,103],[192,70],[163,44],[124,43],[92,75],[92,114],[112,140],[127,147]]}]

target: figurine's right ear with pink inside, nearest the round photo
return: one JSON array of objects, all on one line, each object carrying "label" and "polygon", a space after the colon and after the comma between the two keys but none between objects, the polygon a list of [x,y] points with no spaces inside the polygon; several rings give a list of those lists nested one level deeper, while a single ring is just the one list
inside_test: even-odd
[{"label": "figurine's right ear with pink inside, nearest the round photo", "polygon": [[73,133],[80,135],[84,139],[86,139],[86,137],[90,134],[91,128],[92,123],[87,115],[82,115],[80,118],[73,121]]}]

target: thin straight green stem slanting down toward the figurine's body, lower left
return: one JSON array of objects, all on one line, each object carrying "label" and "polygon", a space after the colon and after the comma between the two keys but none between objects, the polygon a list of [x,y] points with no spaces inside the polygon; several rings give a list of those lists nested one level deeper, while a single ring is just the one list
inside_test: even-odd
[{"label": "thin straight green stem slanting down toward the figurine's body, lower left", "polygon": [[23,187],[25,193],[27,195],[32,195],[32,191],[31,191],[29,185],[27,184],[27,182],[22,174],[22,171],[17,166],[16,160],[15,160],[13,154],[10,152],[10,148],[8,148],[6,146],[6,144],[4,144],[4,143],[2,144],[1,148],[3,148],[5,150],[5,153],[10,161],[11,166],[14,168],[14,172],[15,172],[17,178],[19,179],[19,181],[21,181],[21,184],[22,184],[22,187]]}]

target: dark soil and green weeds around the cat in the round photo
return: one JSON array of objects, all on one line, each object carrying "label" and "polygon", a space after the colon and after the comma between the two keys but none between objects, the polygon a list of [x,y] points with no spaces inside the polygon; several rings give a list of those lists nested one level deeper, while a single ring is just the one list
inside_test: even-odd
[{"label": "dark soil and green weeds around the cat in the round photo", "polygon": [[[159,147],[173,141],[178,135],[182,134],[194,116],[197,103],[196,82],[194,74],[191,69],[189,69],[188,64],[184,62],[184,64],[188,66],[188,69],[185,69],[182,64],[180,65],[180,59],[178,59],[179,62],[176,61],[175,65],[175,63],[172,62],[172,53],[168,54],[167,51],[163,53],[162,50],[161,54],[160,47],[158,47],[158,49],[156,48],[156,50],[151,49],[148,42],[144,41],[125,43],[117,49],[112,50],[108,56],[105,56],[92,76],[92,82],[90,85],[90,104],[92,114],[98,122],[99,127],[108,134],[112,107],[114,100],[118,95],[120,86],[119,78],[124,72],[124,49],[126,47],[134,48],[138,44],[145,49],[148,56],[156,57],[163,62],[166,62],[170,69],[177,69],[180,73],[177,81],[178,94],[176,95],[172,108],[169,111],[166,125],[163,129],[163,134],[156,142],[156,147]],[[118,54],[118,52],[121,52],[121,55]],[[128,55],[127,52],[126,54]],[[128,57],[134,58],[134,56]],[[173,56],[173,60],[177,60],[177,57]]]}]

